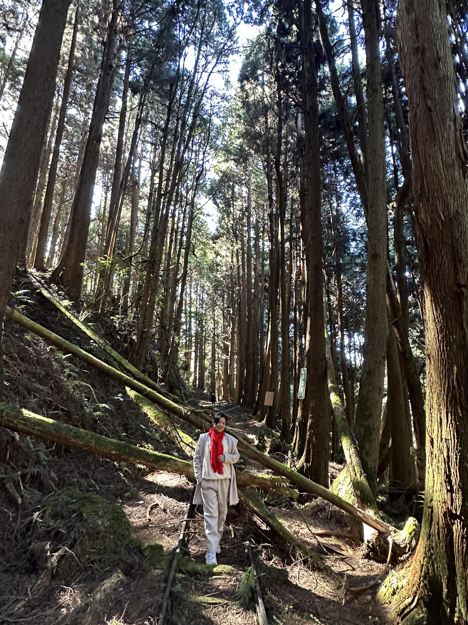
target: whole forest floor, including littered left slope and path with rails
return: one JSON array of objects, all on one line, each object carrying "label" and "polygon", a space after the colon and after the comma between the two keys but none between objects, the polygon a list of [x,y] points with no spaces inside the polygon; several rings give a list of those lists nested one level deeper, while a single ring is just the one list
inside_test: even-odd
[{"label": "whole forest floor, including littered left slope and path with rails", "polygon": [[[17,278],[15,289],[12,306],[104,359],[105,354],[36,291],[27,274]],[[108,324],[104,334],[127,356],[118,328]],[[9,401],[187,459],[124,387],[8,319],[4,359]],[[228,414],[230,427],[255,436],[272,455],[284,459],[275,436],[249,412],[236,404],[215,408]],[[256,469],[241,458],[236,470],[246,467]],[[334,471],[338,468],[332,465]],[[192,491],[192,482],[182,476],[149,472],[0,428],[0,624],[155,625]],[[356,547],[346,537],[346,520],[333,507],[321,506],[305,520],[296,502],[275,494],[266,502],[329,566],[346,573],[353,586],[365,586],[383,571],[384,564],[370,559],[365,546]],[[343,588],[291,554],[240,504],[230,509],[218,556],[218,564],[233,568],[214,576],[194,571],[190,561],[204,564],[202,511],[196,509],[192,519],[165,623],[258,622],[255,600],[241,606],[235,594],[248,566],[246,541],[254,554],[270,624],[388,622],[385,608],[376,602],[375,586],[344,595]],[[335,535],[323,536],[324,532]]]}]

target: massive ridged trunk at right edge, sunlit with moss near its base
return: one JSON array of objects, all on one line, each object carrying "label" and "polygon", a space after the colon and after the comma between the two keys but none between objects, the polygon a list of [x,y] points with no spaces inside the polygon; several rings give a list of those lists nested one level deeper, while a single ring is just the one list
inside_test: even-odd
[{"label": "massive ridged trunk at right edge, sunlit with moss near its base", "polygon": [[429,625],[462,625],[468,621],[467,150],[446,2],[400,0],[397,39],[410,113],[427,358],[426,492],[411,573],[419,584],[407,592],[415,592]]}]

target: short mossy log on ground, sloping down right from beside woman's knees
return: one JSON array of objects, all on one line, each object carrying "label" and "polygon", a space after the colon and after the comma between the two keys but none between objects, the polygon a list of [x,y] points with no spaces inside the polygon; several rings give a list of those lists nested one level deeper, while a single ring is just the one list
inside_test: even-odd
[{"label": "short mossy log on ground, sloping down right from beside woman's knees", "polygon": [[333,569],[329,567],[328,564],[326,564],[321,557],[313,551],[313,549],[296,538],[296,536],[291,534],[291,532],[288,531],[288,529],[286,529],[280,521],[278,521],[278,519],[265,506],[263,501],[261,501],[260,495],[255,491],[255,489],[242,488],[239,491],[239,497],[245,507],[258,516],[258,518],[263,521],[266,526],[270,527],[275,534],[278,534],[278,536],[290,544],[291,547],[300,552],[302,556],[306,557],[314,567],[324,573],[327,573],[335,581],[341,581]]}]

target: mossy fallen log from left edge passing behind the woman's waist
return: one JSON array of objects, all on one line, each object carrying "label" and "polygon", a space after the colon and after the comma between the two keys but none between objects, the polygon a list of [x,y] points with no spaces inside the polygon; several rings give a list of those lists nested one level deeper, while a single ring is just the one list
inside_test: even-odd
[{"label": "mossy fallen log from left edge passing behind the woman's waist", "polygon": [[[0,426],[44,441],[58,442],[69,447],[83,449],[111,460],[143,464],[152,470],[194,477],[192,462],[47,419],[47,417],[12,406],[7,402],[0,403]],[[282,486],[281,482],[284,482],[282,477],[258,476],[250,471],[239,471],[236,473],[236,479],[240,486],[256,486],[281,492],[283,495],[290,493],[291,490]]]}]

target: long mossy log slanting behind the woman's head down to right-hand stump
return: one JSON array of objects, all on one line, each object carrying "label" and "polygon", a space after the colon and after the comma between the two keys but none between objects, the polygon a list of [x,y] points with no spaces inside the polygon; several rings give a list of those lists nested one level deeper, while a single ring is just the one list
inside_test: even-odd
[{"label": "long mossy log slanting behind the woman's head down to right-hand stump", "polygon": [[[46,328],[40,326],[34,321],[31,321],[31,319],[28,319],[20,312],[11,309],[9,306],[7,306],[6,309],[6,316],[9,317],[9,319],[12,319],[12,321],[16,321],[21,326],[26,327],[30,331],[34,332],[38,336],[46,339],[46,341],[51,342],[62,351],[73,354],[86,364],[89,364],[90,366],[99,369],[99,371],[104,372],[109,377],[114,378],[124,386],[128,386],[133,391],[136,391],[144,397],[147,397],[155,404],[157,404],[157,406],[159,406],[160,408],[165,409],[172,414],[180,417],[182,421],[190,423],[190,425],[192,425],[193,427],[197,427],[197,429],[200,429],[203,432],[207,432],[208,429],[210,429],[211,421],[207,418],[207,416],[205,416],[203,411],[190,409],[187,406],[181,406],[171,399],[163,397],[161,394],[154,391],[153,389],[144,386],[144,384],[141,384],[141,382],[132,379],[132,377],[125,375],[121,371],[117,371],[117,369],[114,369],[114,367],[105,364],[105,362],[102,362],[95,356],[88,354],[71,342],[65,341],[61,337],[57,336],[57,334],[54,334],[54,332],[47,330]],[[286,466],[282,462],[279,462],[274,458],[271,458],[270,456],[266,456],[266,454],[263,454],[261,451],[258,451],[258,449],[255,449],[255,447],[249,445],[248,442],[238,436],[238,434],[236,434],[236,432],[233,432],[231,429],[227,428],[226,431],[237,439],[238,449],[245,456],[256,462],[260,462],[260,464],[263,464],[263,466],[267,467],[268,469],[271,469],[272,471],[275,471],[275,473],[286,477],[293,484],[296,484],[296,486],[300,487],[301,491],[309,492],[310,494],[323,497],[323,499],[326,499],[326,501],[329,501],[330,503],[334,504],[334,506],[337,506],[343,511],[348,512],[352,516],[355,516],[360,521],[365,522],[377,531],[383,532],[384,534],[389,533],[390,526],[385,522],[381,521],[381,519],[379,519],[378,517],[372,516],[367,512],[357,509],[353,505],[349,504],[349,502],[341,499],[341,497],[336,496],[333,492],[329,491],[329,489],[320,486],[319,484],[316,484],[307,477]]]}]

